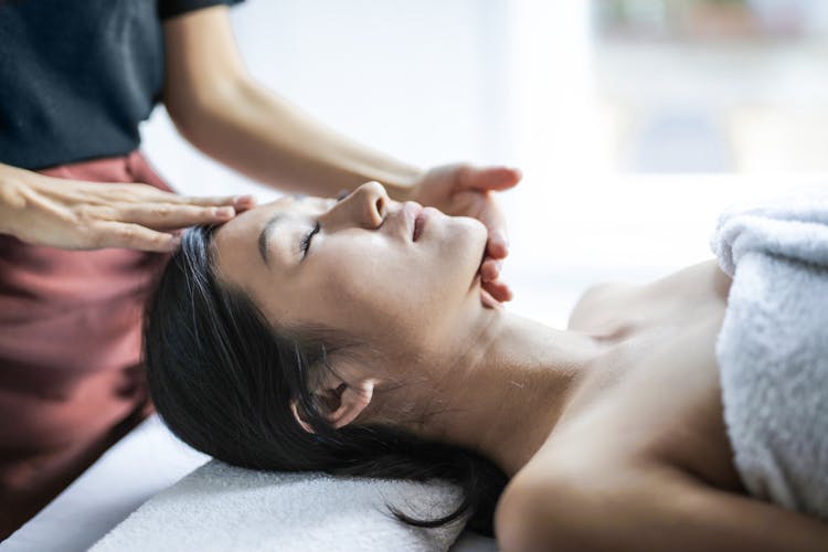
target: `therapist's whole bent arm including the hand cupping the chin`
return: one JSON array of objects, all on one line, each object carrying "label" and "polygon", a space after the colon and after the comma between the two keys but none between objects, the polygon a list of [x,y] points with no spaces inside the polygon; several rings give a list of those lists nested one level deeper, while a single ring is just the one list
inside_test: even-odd
[{"label": "therapist's whole bent arm including the hand cupping the chin", "polygon": [[465,163],[425,171],[333,131],[247,74],[224,6],[168,20],[164,41],[163,102],[197,148],[284,191],[332,197],[376,180],[395,200],[476,217],[489,235],[479,270],[484,305],[511,298],[499,278],[506,221],[491,192],[514,187],[520,171]]}]

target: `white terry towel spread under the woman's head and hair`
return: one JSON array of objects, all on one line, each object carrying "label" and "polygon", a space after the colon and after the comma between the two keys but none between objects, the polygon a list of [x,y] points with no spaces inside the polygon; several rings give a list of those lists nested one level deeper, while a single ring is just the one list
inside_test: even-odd
[{"label": "white terry towel spread under the woman's head and hair", "polygon": [[444,482],[255,471],[211,460],[155,496],[91,550],[445,551],[464,521],[413,528],[388,502],[432,519],[453,511],[459,489]]}]

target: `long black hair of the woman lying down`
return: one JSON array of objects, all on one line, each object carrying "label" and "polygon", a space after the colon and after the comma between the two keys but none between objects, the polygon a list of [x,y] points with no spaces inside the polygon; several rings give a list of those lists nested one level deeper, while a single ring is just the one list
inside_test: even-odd
[{"label": "long black hair of the woman lying down", "polygon": [[[463,500],[438,519],[394,516],[439,527],[469,516],[469,528],[492,534],[506,475],[487,458],[425,440],[390,425],[333,428],[312,383],[354,343],[325,328],[274,329],[251,298],[219,282],[215,226],[184,232],[150,298],[144,322],[149,390],[167,426],[193,448],[227,464],[264,470],[443,479]],[[290,410],[296,401],[301,428]]]}]

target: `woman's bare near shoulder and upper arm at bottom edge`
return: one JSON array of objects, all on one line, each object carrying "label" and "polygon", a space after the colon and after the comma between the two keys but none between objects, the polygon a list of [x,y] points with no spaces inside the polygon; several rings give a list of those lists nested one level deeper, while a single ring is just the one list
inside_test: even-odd
[{"label": "woman's bare near shoulder and upper arm at bottom edge", "polygon": [[516,477],[495,517],[503,552],[824,551],[828,524],[665,464]]}]

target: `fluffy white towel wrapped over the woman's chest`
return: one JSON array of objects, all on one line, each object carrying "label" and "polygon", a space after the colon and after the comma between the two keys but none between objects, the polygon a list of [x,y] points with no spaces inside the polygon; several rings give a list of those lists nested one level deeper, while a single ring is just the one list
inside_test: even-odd
[{"label": "fluffy white towel wrapped over the woman's chest", "polygon": [[716,357],[736,468],[828,519],[828,187],[729,209],[711,245],[733,277]]}]

